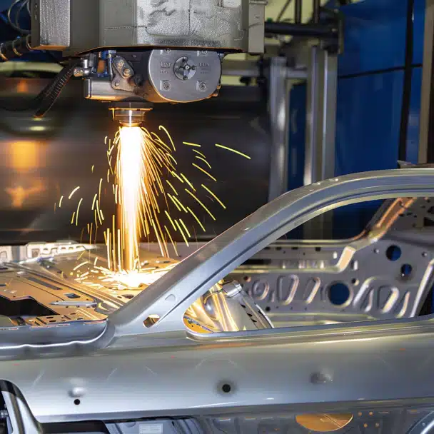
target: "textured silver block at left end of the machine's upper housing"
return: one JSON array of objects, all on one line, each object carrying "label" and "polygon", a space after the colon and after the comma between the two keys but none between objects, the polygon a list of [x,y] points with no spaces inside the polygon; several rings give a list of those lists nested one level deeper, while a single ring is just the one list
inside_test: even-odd
[{"label": "textured silver block at left end of the machine's upper housing", "polygon": [[64,50],[71,44],[71,0],[31,1],[31,44],[34,49]]}]

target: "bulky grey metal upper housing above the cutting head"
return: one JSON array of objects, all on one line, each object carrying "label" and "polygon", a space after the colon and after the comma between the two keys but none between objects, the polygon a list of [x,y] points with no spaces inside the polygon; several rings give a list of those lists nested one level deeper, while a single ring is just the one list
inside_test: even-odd
[{"label": "bulky grey metal upper housing above the cutting head", "polygon": [[[262,0],[173,5],[147,0],[38,0],[39,4],[46,13],[35,21],[39,24],[35,36],[44,36],[45,48],[65,49],[65,54],[116,46],[263,52],[266,2]],[[57,4],[70,8],[70,14],[61,14],[54,8]]]}]

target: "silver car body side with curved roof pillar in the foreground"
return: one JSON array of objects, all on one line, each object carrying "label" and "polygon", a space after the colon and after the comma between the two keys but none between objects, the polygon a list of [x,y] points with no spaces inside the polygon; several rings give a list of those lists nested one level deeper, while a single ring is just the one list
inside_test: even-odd
[{"label": "silver car body side with curved roof pillar in the foreground", "polygon": [[[291,228],[349,203],[430,196],[433,178],[431,168],[374,171],[286,193],[112,313],[100,338],[52,345],[51,333],[1,348],[2,378],[39,422],[434,405],[432,316],[208,335],[183,325],[198,296]],[[159,320],[143,326],[152,314]]]}]

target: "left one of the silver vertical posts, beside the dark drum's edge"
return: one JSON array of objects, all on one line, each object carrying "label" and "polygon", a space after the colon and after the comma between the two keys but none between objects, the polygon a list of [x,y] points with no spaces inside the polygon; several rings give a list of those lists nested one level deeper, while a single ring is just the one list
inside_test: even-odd
[{"label": "left one of the silver vertical posts, beside the dark drum's edge", "polygon": [[273,57],[268,78],[272,146],[268,201],[272,201],[288,190],[289,89],[286,76],[286,59]]}]

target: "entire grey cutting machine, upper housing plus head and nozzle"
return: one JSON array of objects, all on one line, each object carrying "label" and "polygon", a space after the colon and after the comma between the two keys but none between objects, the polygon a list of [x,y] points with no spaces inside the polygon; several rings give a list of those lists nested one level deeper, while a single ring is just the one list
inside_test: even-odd
[{"label": "entire grey cutting machine, upper housing plus head and nozzle", "polygon": [[111,102],[122,123],[153,103],[216,96],[228,52],[263,52],[264,0],[36,0],[34,49],[80,56],[84,97]]}]

